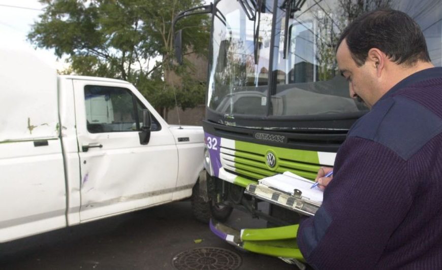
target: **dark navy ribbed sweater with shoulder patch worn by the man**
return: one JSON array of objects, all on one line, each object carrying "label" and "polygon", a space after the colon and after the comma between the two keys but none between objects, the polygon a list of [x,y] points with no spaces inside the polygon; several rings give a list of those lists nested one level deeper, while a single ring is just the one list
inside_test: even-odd
[{"label": "dark navy ribbed sweater with shoulder patch worn by the man", "polygon": [[298,230],[319,269],[442,269],[442,67],[399,82],[340,147]]}]

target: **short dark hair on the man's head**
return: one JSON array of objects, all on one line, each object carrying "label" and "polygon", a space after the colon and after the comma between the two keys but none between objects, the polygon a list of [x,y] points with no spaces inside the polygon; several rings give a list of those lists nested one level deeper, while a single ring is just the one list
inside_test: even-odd
[{"label": "short dark hair on the man's head", "polygon": [[358,66],[365,63],[371,48],[380,49],[397,64],[430,62],[427,44],[419,25],[408,15],[392,9],[377,9],[356,18],[342,32]]}]

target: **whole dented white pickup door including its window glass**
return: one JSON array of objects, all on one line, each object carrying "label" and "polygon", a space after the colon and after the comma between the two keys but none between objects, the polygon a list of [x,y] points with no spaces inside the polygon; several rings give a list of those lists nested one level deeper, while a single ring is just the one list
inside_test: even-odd
[{"label": "whole dented white pickup door including its window glass", "polygon": [[[80,220],[166,203],[175,190],[178,154],[167,123],[127,83],[73,80],[81,168]],[[152,115],[141,145],[142,109]]]}]

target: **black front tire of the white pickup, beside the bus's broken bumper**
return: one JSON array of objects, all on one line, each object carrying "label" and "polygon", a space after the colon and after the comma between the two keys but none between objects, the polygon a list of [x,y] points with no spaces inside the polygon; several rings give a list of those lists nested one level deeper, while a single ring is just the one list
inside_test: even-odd
[{"label": "black front tire of the white pickup, beside the bus's broken bumper", "polygon": [[226,221],[233,208],[229,206],[215,204],[213,199],[209,197],[209,201],[204,201],[203,197],[200,196],[200,185],[195,184],[192,190],[192,213],[194,217],[203,223],[209,223],[211,218],[218,221]]}]

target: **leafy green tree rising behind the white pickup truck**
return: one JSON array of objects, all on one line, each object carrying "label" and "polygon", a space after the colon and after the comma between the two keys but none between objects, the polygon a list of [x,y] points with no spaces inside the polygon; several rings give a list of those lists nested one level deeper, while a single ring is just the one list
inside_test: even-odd
[{"label": "leafy green tree rising behind the white pickup truck", "polygon": [[[40,0],[40,21],[28,33],[37,47],[67,56],[78,75],[118,78],[133,83],[160,113],[178,104],[194,107],[204,99],[200,82],[192,78],[192,64],[172,64],[172,20],[201,0]],[[187,53],[207,54],[209,31],[205,15],[181,20]],[[192,38],[191,38],[192,37]],[[188,67],[191,68],[188,68]],[[186,78],[170,80],[172,72]]]}]

